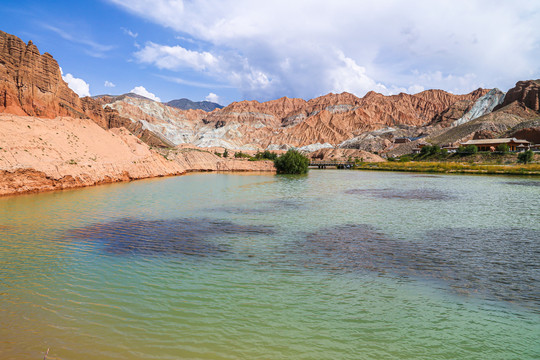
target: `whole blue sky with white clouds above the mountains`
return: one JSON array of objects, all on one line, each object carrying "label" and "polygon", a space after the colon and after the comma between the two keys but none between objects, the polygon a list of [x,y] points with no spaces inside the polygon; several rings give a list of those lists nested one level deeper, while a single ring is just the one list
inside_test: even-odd
[{"label": "whole blue sky with white clouds above the mountains", "polygon": [[2,0],[80,96],[227,105],[540,78],[538,0]]}]

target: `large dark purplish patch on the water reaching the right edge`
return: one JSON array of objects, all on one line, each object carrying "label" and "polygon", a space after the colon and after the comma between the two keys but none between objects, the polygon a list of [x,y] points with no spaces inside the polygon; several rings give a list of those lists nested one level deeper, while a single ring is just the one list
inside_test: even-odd
[{"label": "large dark purplish patch on the water reaching the right edge", "polygon": [[540,307],[539,239],[540,231],[527,229],[449,228],[408,241],[370,225],[341,225],[306,234],[297,250],[308,254],[308,267],[435,278],[462,293]]}]

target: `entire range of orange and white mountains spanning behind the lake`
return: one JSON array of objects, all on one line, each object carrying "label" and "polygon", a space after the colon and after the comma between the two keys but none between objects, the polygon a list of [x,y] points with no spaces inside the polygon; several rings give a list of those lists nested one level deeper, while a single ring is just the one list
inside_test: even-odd
[{"label": "entire range of orange and white mountains spanning behind the lake", "polygon": [[[538,143],[540,80],[519,81],[506,93],[499,89],[476,89],[456,95],[443,90],[426,90],[392,96],[369,92],[357,97],[344,92],[311,100],[287,97],[262,103],[246,100],[225,107],[188,99],[160,103],[131,93],[79,98],[62,79],[52,55],[40,54],[32,41],[26,44],[0,31],[0,113],[5,114],[0,118],[5,120],[0,121],[4,135],[18,136],[19,143],[27,144],[25,149],[18,149],[17,143],[0,134],[0,148],[3,148],[0,171],[4,172],[4,178],[6,172],[13,174],[21,169],[39,168],[44,174],[40,175],[42,177],[56,179],[57,184],[59,179],[64,179],[60,184],[76,186],[77,183],[87,184],[85,178],[90,179],[90,183],[99,183],[177,174],[201,168],[202,163],[208,169],[245,166],[220,159],[213,155],[213,150],[208,152],[212,156],[205,155],[207,158],[197,160],[197,165],[186,160],[189,153],[186,149],[194,146],[232,151],[296,147],[322,158],[352,156],[379,161],[382,159],[374,153],[405,154],[420,141],[455,145],[473,138],[519,136]],[[51,133],[49,145],[38,146],[35,138],[38,134],[25,130],[32,128],[32,122],[39,124],[41,131]],[[23,123],[26,128],[21,128]],[[63,133],[62,124],[68,123],[73,127],[70,130],[73,135]],[[94,130],[82,130],[88,127]],[[25,131],[19,133],[15,129]],[[124,153],[120,156],[124,165],[113,164],[114,156],[104,155],[106,148],[92,150],[91,157],[81,154],[71,136],[79,139],[90,136],[85,133],[92,133],[94,142],[116,144],[116,152]],[[71,141],[65,143],[55,138],[64,135]],[[116,140],[112,141],[111,137]],[[119,138],[125,141],[119,144]],[[396,141],[399,138],[412,141],[400,143]],[[6,143],[12,144],[11,147]],[[65,146],[65,149],[56,149],[50,144]],[[91,149],[93,145],[85,146]],[[157,153],[156,149],[162,150]],[[69,151],[79,158],[66,159]],[[171,151],[174,154],[169,157],[167,152]],[[32,153],[34,157],[22,156],[23,152]],[[175,165],[171,161],[163,162],[163,156],[174,160]],[[109,165],[104,162],[101,167],[96,166],[98,164],[90,160],[94,158],[96,161],[105,159]],[[53,160],[56,165],[47,164]],[[66,162],[72,166],[66,167]],[[75,163],[86,164],[84,171],[74,166]],[[128,163],[144,163],[144,170],[127,166]],[[77,171],[73,171],[75,167]],[[66,176],[72,180],[65,180]]]}]

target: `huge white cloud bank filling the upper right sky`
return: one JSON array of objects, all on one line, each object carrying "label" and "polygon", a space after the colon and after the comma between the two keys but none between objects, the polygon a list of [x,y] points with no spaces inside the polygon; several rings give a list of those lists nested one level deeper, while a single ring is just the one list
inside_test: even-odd
[{"label": "huge white cloud bank filling the upper right sky", "polygon": [[540,77],[534,0],[109,1],[200,44],[147,43],[139,61],[204,72],[245,97],[468,92]]}]

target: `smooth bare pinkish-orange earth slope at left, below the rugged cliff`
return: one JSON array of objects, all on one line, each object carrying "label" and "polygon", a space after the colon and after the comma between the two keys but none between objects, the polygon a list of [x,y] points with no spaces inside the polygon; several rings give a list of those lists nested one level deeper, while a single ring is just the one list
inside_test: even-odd
[{"label": "smooth bare pinkish-orange earth slope at left, below the rugged cliff", "polygon": [[0,115],[0,195],[90,186],[189,171],[272,171],[271,162],[187,149],[167,158],[126,129],[89,119]]}]

